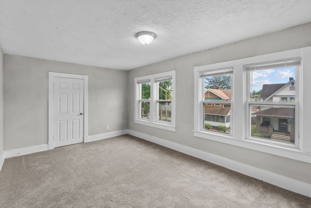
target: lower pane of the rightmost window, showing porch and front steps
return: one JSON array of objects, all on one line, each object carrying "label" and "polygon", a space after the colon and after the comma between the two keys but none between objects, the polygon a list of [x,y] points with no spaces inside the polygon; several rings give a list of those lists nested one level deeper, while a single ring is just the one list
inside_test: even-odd
[{"label": "lower pane of the rightmost window, showing porch and front steps", "polygon": [[250,105],[250,110],[251,137],[294,143],[294,106]]}]

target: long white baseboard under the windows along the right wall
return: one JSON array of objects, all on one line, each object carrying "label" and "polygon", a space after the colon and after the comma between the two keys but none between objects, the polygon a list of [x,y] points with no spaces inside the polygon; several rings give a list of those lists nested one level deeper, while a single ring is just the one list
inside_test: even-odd
[{"label": "long white baseboard under the windows along the right wall", "polygon": [[160,139],[155,136],[151,136],[145,133],[136,132],[133,130],[128,130],[128,134],[136,136],[138,138],[151,141],[153,143],[159,144],[161,146],[183,152],[185,154],[200,158],[207,162],[214,163],[216,165],[225,167],[230,170],[234,170],[236,172],[240,172],[244,175],[248,175],[253,178],[257,178],[269,184],[273,184],[277,187],[287,189],[293,191],[295,193],[299,193],[308,197],[311,197],[311,184],[307,184],[298,180],[294,180],[292,178],[288,178],[282,175],[278,175],[273,172],[269,172],[267,170],[262,170],[259,168],[255,168],[250,165],[246,165],[234,160],[227,159],[225,157],[221,157],[215,154],[211,154],[205,151],[200,151],[194,148],[190,148],[184,145],[180,145],[165,139]]}]

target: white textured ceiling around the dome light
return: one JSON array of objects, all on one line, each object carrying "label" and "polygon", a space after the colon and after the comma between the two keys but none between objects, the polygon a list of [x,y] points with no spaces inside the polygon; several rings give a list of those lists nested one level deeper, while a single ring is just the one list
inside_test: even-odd
[{"label": "white textured ceiling around the dome light", "polygon": [[[0,0],[4,54],[129,70],[311,22],[311,0]],[[139,31],[156,34],[142,45]]]}]

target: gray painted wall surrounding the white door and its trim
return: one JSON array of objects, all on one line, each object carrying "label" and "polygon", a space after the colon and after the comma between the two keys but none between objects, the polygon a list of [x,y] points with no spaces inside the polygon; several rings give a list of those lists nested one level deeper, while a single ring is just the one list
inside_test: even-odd
[{"label": "gray painted wall surrounding the white door and its trim", "polygon": [[48,143],[49,71],[88,75],[89,135],[127,129],[127,71],[5,54],[4,151]]}]

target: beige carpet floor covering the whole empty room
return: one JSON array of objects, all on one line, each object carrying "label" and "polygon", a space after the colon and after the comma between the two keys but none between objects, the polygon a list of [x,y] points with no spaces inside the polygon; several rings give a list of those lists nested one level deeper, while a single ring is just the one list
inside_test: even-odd
[{"label": "beige carpet floor covering the whole empty room", "polygon": [[123,135],[5,159],[0,208],[311,208],[311,198]]}]

